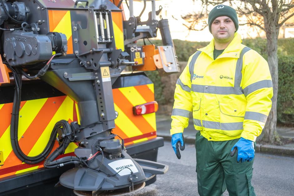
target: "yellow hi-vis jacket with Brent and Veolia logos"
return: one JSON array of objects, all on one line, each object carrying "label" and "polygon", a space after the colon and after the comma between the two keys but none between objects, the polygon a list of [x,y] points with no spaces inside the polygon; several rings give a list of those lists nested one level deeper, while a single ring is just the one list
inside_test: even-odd
[{"label": "yellow hi-vis jacket with Brent and Veolia logos", "polygon": [[271,110],[268,64],[256,51],[234,39],[213,59],[214,39],[194,53],[177,80],[170,134],[182,133],[190,114],[196,130],[213,141],[255,141]]}]

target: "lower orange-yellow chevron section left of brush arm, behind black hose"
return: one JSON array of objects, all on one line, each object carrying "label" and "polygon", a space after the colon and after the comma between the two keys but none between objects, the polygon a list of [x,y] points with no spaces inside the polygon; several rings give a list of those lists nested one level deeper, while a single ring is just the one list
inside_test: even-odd
[{"label": "lower orange-yellow chevron section left of brush arm, behind black hose", "polygon": [[[0,166],[0,178],[43,167],[43,163],[22,163],[13,153],[10,143],[10,120],[13,103],[0,104],[0,151],[4,163]],[[68,96],[22,101],[19,112],[18,142],[23,153],[36,156],[41,153],[56,122],[62,119],[78,120],[77,104]],[[58,147],[56,141],[52,152]],[[65,155],[73,155],[75,143],[70,143]]]}]

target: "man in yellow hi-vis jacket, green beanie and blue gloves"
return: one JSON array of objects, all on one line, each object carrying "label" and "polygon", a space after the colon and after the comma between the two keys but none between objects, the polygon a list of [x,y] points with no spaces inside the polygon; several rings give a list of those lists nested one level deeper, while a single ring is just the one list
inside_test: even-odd
[{"label": "man in yellow hi-vis jacket, green beanie and blue gloves", "polygon": [[180,158],[192,113],[198,193],[219,196],[227,188],[230,195],[255,195],[255,140],[271,110],[271,74],[266,60],[241,44],[233,8],[213,8],[208,25],[212,41],[189,58],[176,83],[171,143]]}]

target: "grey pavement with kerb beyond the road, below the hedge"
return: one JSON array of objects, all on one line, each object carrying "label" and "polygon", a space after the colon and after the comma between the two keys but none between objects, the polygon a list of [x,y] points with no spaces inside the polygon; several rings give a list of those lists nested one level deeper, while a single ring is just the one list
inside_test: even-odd
[{"label": "grey pavement with kerb beyond the road, below the hedge", "polygon": [[[163,137],[166,141],[171,141],[170,123],[170,116],[156,114],[157,136]],[[277,127],[277,133],[282,138],[291,138],[294,140],[294,127]],[[193,120],[190,119],[188,127],[184,129],[185,143],[195,144],[195,135],[196,130],[193,126]],[[294,157],[294,143],[285,144],[281,146],[256,143],[256,152]]]}]

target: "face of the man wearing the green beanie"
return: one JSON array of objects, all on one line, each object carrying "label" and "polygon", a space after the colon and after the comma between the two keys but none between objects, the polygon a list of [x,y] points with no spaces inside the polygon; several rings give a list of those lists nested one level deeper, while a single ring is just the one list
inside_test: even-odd
[{"label": "face of the man wearing the green beanie", "polygon": [[211,33],[218,43],[229,43],[233,40],[236,28],[231,18],[220,16],[211,24]]}]

